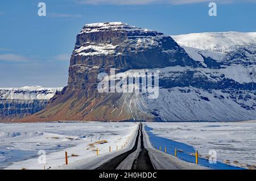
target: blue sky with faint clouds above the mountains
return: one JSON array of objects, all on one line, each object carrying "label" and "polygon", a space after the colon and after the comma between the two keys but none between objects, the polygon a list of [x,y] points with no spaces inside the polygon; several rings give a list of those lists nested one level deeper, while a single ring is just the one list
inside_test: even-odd
[{"label": "blue sky with faint clouds above the mountains", "polygon": [[[217,16],[209,16],[209,2]],[[0,87],[63,87],[76,35],[96,22],[123,22],[179,35],[256,31],[256,0],[1,0]],[[38,3],[46,3],[46,16]]]}]

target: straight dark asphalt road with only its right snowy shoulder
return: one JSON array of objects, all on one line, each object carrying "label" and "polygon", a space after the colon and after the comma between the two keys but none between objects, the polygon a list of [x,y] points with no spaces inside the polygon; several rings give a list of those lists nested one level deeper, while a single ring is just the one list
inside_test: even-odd
[{"label": "straight dark asphalt road with only its right snowy shoulder", "polygon": [[176,157],[152,148],[143,124],[139,124],[137,136],[132,149],[119,154],[97,167],[97,170],[197,170],[206,169],[180,161]]}]

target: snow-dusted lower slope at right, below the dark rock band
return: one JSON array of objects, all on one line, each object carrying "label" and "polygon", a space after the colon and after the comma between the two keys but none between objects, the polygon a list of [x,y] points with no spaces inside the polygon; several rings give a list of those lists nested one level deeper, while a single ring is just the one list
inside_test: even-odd
[{"label": "snow-dusted lower slope at right, below the dark rock band", "polygon": [[[255,99],[252,93],[246,93]],[[241,94],[242,95],[242,94]],[[238,95],[237,95],[238,96]],[[232,98],[221,90],[203,90],[195,87],[174,87],[160,89],[158,99],[144,96],[149,110],[163,121],[239,121],[253,120],[254,110],[246,110],[238,104],[238,98]],[[254,99],[247,100],[249,105]],[[236,101],[235,101],[236,100]]]}]

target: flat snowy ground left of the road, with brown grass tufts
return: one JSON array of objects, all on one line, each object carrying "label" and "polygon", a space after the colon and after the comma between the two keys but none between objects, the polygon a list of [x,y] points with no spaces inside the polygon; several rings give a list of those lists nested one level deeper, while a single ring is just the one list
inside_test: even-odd
[{"label": "flat snowy ground left of the road, with brown grass tufts", "polygon": [[[121,150],[137,130],[134,123],[23,123],[0,124],[0,169],[46,169]],[[97,142],[98,141],[98,142]],[[46,164],[38,151],[46,151]],[[113,152],[112,152],[113,153]],[[72,156],[73,154],[73,156]]]}]

